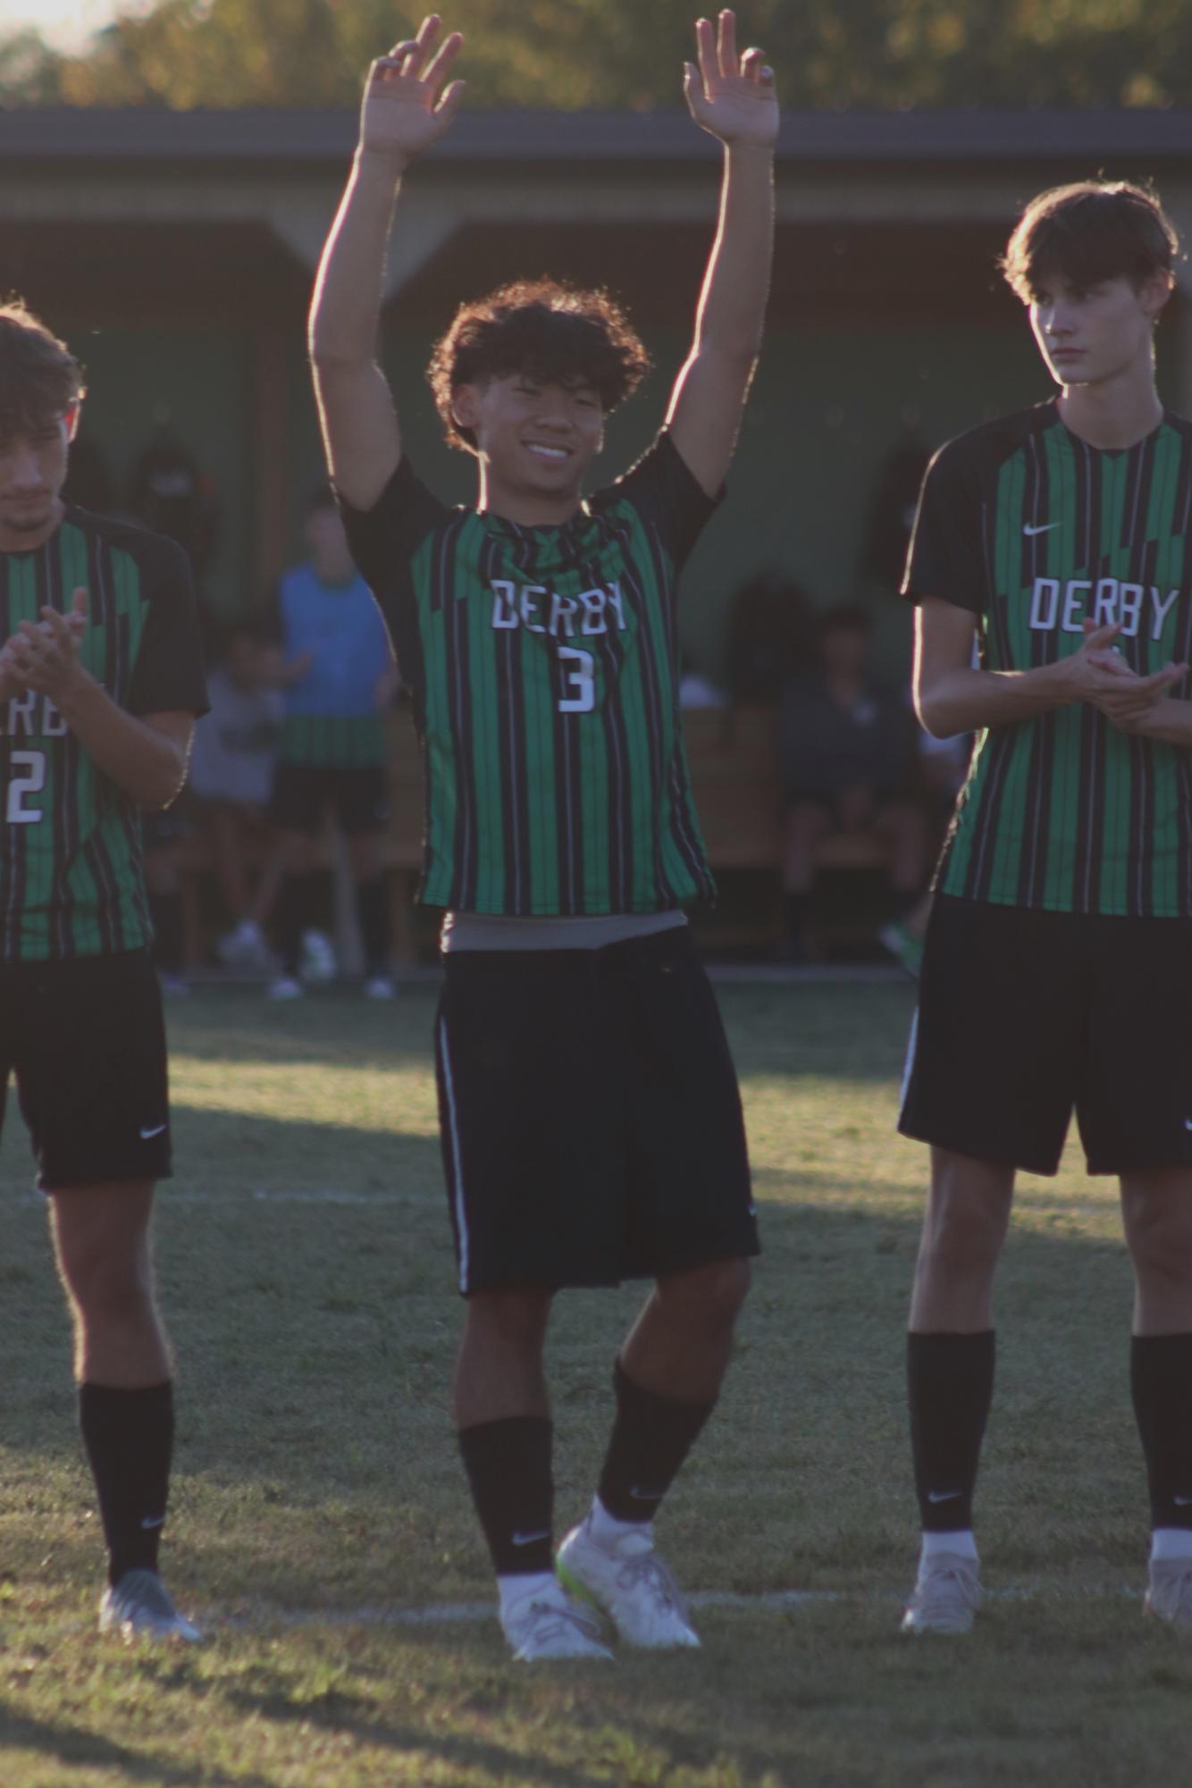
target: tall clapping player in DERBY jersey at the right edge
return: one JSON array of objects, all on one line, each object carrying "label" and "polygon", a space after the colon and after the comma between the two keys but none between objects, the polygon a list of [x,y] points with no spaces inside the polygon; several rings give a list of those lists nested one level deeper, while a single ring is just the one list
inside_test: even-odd
[{"label": "tall clapping player in DERBY jersey at the right edge", "polygon": [[931,1144],[908,1632],[963,1632],[979,1604],[994,1269],[1015,1169],[1056,1171],[1072,1109],[1088,1171],[1121,1182],[1135,1269],[1147,1607],[1192,1627],[1192,426],[1163,409],[1153,347],[1174,256],[1135,186],[1026,207],[1003,270],[1058,395],[936,454],[910,549],[919,715],[979,738],[901,1116]]}]

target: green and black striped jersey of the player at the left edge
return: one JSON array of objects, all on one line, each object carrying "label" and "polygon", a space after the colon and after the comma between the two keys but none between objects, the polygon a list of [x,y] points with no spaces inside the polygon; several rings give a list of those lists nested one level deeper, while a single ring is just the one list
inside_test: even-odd
[{"label": "green and black striped jersey of the player at the left edge", "polygon": [[[0,552],[0,640],[88,592],[80,662],[130,713],[204,713],[180,547],[73,506],[45,545]],[[150,937],[141,814],[45,696],[0,703],[0,960],[114,955]]]}]

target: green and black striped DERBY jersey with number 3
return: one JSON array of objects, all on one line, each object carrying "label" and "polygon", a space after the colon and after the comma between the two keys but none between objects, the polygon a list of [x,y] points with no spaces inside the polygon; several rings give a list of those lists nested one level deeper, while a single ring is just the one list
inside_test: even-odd
[{"label": "green and black striped DERBY jersey with number 3", "polygon": [[450,510],[406,461],[368,513],[345,504],[413,694],[424,901],[531,917],[713,894],[676,633],[713,506],[667,433],[561,527]]}]

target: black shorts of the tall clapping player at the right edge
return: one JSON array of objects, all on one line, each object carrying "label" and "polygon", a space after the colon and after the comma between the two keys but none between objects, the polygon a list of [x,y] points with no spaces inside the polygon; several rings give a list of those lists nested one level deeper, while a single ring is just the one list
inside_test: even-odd
[{"label": "black shorts of the tall clapping player at the right edge", "polygon": [[936,896],[902,1135],[1054,1173],[1192,1168],[1192,923]]}]

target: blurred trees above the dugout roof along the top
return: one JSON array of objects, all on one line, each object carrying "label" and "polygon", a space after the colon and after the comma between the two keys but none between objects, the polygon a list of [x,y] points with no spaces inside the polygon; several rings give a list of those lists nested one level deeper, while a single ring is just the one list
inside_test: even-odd
[{"label": "blurred trees above the dugout roof along the top", "polygon": [[[745,0],[786,109],[1169,105],[1192,66],[1188,0]],[[468,105],[679,104],[692,0],[456,0]],[[354,105],[413,34],[391,0],[157,0],[82,55],[0,39],[0,104]]]}]

